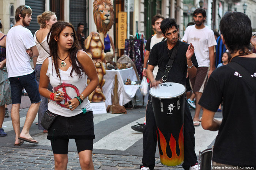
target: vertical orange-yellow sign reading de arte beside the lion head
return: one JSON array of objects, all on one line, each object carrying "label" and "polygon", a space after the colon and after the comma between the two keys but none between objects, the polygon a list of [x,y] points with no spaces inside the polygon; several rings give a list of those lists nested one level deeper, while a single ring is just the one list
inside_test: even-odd
[{"label": "vertical orange-yellow sign reading de arte beside the lion head", "polygon": [[118,12],[118,49],[124,49],[127,38],[127,12]]}]

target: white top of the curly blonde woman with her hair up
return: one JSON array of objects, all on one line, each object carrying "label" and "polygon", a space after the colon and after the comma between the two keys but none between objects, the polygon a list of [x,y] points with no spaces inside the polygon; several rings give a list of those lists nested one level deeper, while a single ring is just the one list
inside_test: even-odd
[{"label": "white top of the curly blonde woman with her hair up", "polygon": [[[37,30],[38,31],[38,30]],[[37,31],[35,31],[35,35],[37,34]],[[45,59],[47,57],[50,56],[50,48],[49,48],[49,45],[47,43],[47,35],[45,36],[45,38],[43,39],[43,41],[41,42],[41,45],[44,47],[42,47],[40,45],[40,43],[37,41],[37,38],[35,37],[34,35],[34,40],[35,40],[35,43],[37,44],[37,49],[38,49],[38,52],[39,52],[39,55],[37,57],[37,63],[36,64],[42,64]],[[48,53],[45,51],[48,51]]]}]

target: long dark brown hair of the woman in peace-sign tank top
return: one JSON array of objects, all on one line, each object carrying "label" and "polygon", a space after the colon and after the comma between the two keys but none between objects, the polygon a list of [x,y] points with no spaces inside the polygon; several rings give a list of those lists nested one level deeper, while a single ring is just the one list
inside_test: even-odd
[{"label": "long dark brown hair of the woman in peace-sign tank top", "polygon": [[[50,32],[47,35],[47,42],[48,42],[48,45],[50,48],[50,56],[52,56],[52,61],[55,66],[56,73],[57,73],[57,75],[60,76],[59,66],[57,64],[58,42],[54,38],[59,38],[61,31],[63,31],[65,27],[71,27],[74,32],[74,36],[73,36],[74,43],[73,43],[71,49],[69,49],[69,59],[71,61],[71,65],[72,65],[72,70],[70,72],[70,76],[72,77],[72,73],[73,73],[73,71],[75,71],[79,75],[79,78],[80,78],[83,75],[84,71],[83,71],[83,67],[82,67],[81,63],[78,61],[78,59],[76,57],[76,53],[78,52],[78,50],[81,49],[81,47],[80,47],[80,44],[79,44],[77,36],[76,36],[75,28],[72,26],[71,23],[68,23],[65,21],[58,21],[52,25],[52,28],[50,29]],[[49,39],[49,37],[50,37],[50,39]],[[76,62],[78,64],[76,64]]]}]

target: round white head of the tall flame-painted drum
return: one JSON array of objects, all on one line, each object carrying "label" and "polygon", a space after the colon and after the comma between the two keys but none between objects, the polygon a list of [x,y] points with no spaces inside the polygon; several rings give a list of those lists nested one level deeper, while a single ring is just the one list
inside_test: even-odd
[{"label": "round white head of the tall flame-painted drum", "polygon": [[155,98],[175,98],[186,92],[184,85],[173,82],[159,84],[157,88],[150,88],[149,93]]}]

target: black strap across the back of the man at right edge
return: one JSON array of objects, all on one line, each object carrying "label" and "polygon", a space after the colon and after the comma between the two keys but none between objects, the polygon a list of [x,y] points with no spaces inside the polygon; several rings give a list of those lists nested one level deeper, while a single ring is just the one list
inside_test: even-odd
[{"label": "black strap across the back of the man at right edge", "polygon": [[240,64],[237,62],[230,62],[227,66],[231,67],[232,69],[236,70],[240,73],[242,78],[245,80],[245,82],[255,91],[256,93],[256,80],[254,80],[251,76],[251,74]]}]

